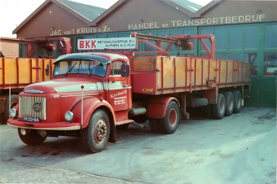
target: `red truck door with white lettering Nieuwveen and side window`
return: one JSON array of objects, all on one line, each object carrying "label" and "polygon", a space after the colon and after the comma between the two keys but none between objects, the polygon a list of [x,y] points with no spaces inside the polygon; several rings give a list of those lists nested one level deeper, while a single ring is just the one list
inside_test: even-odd
[{"label": "red truck door with white lettering Nieuwveen and side window", "polygon": [[128,77],[121,76],[121,66],[122,62],[111,63],[109,82],[107,83],[109,103],[115,112],[127,111],[132,108],[132,103],[129,103],[131,102],[131,87],[128,85]]}]

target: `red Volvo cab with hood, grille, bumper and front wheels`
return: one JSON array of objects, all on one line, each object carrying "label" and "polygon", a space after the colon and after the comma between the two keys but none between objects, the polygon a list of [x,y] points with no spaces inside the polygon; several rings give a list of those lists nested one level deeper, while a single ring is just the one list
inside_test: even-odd
[{"label": "red Volvo cab with hood, grille, bumper and front wheels", "polygon": [[116,123],[133,121],[128,120],[131,108],[126,56],[75,53],[58,57],[50,81],[29,85],[19,94],[8,124],[18,127],[28,145],[40,144],[47,136],[77,135],[86,139],[88,151],[99,152],[110,133],[115,142]]}]

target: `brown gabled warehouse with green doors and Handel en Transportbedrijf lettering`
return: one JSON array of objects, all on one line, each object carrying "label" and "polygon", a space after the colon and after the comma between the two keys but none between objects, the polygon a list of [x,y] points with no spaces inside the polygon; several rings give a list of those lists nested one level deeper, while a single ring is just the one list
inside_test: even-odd
[{"label": "brown gabled warehouse with green doors and Handel en Transportbedrijf lettering", "polygon": [[[103,9],[68,0],[46,0],[14,31],[17,38],[70,37],[71,52],[84,38],[214,34],[215,57],[251,63],[251,96],[246,106],[276,107],[277,1],[214,0],[204,7],[185,0],[119,0]],[[171,47],[171,55],[206,53]],[[139,50],[152,48],[139,45]],[[53,55],[59,55],[56,49]],[[20,47],[24,57],[24,48]]]}]

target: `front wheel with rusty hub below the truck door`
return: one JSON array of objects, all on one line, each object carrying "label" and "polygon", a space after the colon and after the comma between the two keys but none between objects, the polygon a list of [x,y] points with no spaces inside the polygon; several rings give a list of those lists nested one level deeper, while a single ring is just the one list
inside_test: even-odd
[{"label": "front wheel with rusty hub below the truck door", "polygon": [[95,111],[88,126],[81,131],[82,144],[90,153],[105,149],[110,136],[110,120],[107,113],[100,109]]}]

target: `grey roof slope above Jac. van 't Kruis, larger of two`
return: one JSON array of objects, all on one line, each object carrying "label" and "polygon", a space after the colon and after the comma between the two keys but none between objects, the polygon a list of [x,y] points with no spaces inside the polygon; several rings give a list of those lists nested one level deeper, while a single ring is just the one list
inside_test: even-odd
[{"label": "grey roof slope above Jac. van 't Kruis, larger of two", "polygon": [[83,3],[77,3],[74,1],[68,1],[68,0],[58,0],[58,1],[64,4],[65,6],[69,7],[73,11],[77,12],[81,16],[87,18],[90,21],[93,21],[104,11],[106,11],[105,8],[100,8],[100,7],[87,5]]}]

